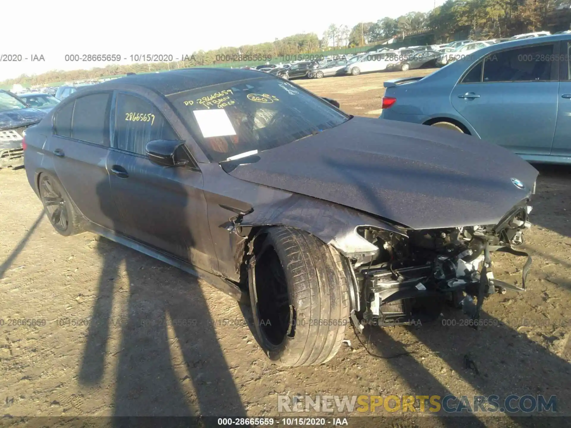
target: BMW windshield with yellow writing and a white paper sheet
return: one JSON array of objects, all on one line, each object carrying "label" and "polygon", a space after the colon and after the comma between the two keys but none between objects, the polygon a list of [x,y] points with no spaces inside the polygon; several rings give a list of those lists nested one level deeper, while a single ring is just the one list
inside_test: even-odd
[{"label": "BMW windshield with yellow writing and a white paper sheet", "polygon": [[349,120],[323,99],[273,77],[223,83],[167,98],[214,162],[283,146]]}]

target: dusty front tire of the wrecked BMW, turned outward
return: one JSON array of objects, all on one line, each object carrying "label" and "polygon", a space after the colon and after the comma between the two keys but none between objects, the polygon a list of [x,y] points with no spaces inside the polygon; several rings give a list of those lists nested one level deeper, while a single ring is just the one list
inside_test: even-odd
[{"label": "dusty front tire of the wrecked BMW, turned outward", "polygon": [[269,228],[258,239],[248,282],[264,353],[281,366],[331,360],[349,325],[352,279],[344,273],[342,256],[315,236],[289,227]]}]

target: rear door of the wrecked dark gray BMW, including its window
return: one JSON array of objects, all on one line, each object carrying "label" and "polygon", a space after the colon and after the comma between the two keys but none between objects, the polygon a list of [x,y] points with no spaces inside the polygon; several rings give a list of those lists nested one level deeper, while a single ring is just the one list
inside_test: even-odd
[{"label": "rear door of the wrecked dark gray BMW, including its window", "polygon": [[47,143],[55,172],[79,211],[106,228],[117,217],[106,167],[111,94],[100,92],[67,102],[55,115],[54,134]]}]

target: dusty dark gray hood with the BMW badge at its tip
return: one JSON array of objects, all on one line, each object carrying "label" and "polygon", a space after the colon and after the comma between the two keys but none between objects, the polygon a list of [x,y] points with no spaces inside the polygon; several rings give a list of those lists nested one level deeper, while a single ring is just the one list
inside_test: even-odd
[{"label": "dusty dark gray hood with the BMW badge at its tip", "polygon": [[357,117],[259,156],[230,175],[415,229],[497,224],[538,175],[519,156],[469,135]]}]

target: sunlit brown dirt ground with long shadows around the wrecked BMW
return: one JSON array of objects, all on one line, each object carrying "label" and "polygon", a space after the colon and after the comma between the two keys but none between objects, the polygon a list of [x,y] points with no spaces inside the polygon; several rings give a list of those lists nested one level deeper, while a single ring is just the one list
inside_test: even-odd
[{"label": "sunlit brown dirt ground with long shadows around the wrecked BMW", "polygon": [[[297,83],[339,100],[344,111],[376,117],[383,80],[428,72]],[[367,329],[363,343],[351,329],[350,345],[330,362],[295,369],[267,360],[247,308],[103,238],[58,235],[25,171],[2,169],[2,414],[281,417],[278,394],[543,394],[557,395],[558,414],[571,415],[571,167],[537,168],[525,243],[534,259],[528,291],[486,300],[482,318],[491,325],[474,330],[451,311],[443,317],[456,325]],[[521,284],[525,259],[498,254],[494,262],[497,278]],[[9,325],[14,320],[29,325]],[[391,358],[401,353],[409,354]],[[465,368],[465,355],[476,369]],[[382,408],[376,414],[399,415]],[[419,426],[414,416],[406,413],[398,426]],[[503,415],[500,426],[522,426],[524,419]],[[568,422],[557,419],[552,426]],[[468,420],[484,427],[498,418]],[[446,418],[437,424],[466,426]]]}]

